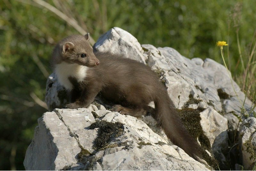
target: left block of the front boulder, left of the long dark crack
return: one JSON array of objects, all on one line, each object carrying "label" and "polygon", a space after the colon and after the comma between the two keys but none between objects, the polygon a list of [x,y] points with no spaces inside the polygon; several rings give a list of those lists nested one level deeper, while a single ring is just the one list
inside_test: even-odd
[{"label": "left block of the front boulder, left of the long dark crack", "polygon": [[59,116],[55,112],[46,112],[38,119],[24,167],[26,170],[59,170],[76,163],[76,155],[80,151],[76,138],[70,135]]}]

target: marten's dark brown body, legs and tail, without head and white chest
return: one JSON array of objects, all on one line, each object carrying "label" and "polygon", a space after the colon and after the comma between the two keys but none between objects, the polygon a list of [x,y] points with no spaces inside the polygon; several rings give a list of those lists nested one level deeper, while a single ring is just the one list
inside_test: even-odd
[{"label": "marten's dark brown body, legs and tail, without head and white chest", "polygon": [[[87,46],[78,41],[77,44],[79,48]],[[154,71],[143,63],[117,54],[99,52],[95,56],[100,64],[89,68],[82,82],[69,77],[74,85],[72,100],[75,102],[68,104],[67,108],[88,107],[100,93],[103,98],[118,104],[113,110],[138,117],[145,115],[149,102],[154,101],[155,109],[150,110],[154,111],[153,117],[167,137],[189,156],[196,160],[196,156],[200,157],[196,141],[182,125],[172,100]]]}]

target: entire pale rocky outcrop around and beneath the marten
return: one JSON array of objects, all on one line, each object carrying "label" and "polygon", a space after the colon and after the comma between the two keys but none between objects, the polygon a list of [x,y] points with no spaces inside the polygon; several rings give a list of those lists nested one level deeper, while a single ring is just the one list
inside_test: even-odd
[{"label": "entire pale rocky outcrop around and beneath the marten", "polygon": [[[178,108],[183,124],[197,138],[207,156],[229,169],[228,135],[238,129],[241,111],[250,113],[252,102],[240,100],[244,93],[226,68],[211,60],[188,59],[175,49],[140,45],[130,33],[114,27],[94,45],[95,51],[110,50],[145,63],[159,79]],[[55,74],[47,80],[45,101],[50,111],[68,102]],[[152,104],[151,104],[152,105]],[[152,105],[154,106],[154,105]],[[107,109],[109,110],[107,110]],[[89,108],[54,109],[38,119],[24,166],[30,169],[92,170],[207,170],[165,136],[156,121],[124,116],[97,99]],[[228,134],[229,133],[229,134]],[[209,154],[209,155],[208,155]],[[216,168],[216,160],[204,158]]]}]

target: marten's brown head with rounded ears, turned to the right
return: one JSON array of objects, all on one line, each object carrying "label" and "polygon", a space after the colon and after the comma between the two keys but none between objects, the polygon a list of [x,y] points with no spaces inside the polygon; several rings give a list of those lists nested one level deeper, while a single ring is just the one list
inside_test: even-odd
[{"label": "marten's brown head with rounded ears, turned to the right", "polygon": [[61,51],[60,60],[87,67],[99,65],[100,61],[94,55],[89,39],[90,35],[87,33],[84,36],[72,35],[60,41],[58,46]]}]

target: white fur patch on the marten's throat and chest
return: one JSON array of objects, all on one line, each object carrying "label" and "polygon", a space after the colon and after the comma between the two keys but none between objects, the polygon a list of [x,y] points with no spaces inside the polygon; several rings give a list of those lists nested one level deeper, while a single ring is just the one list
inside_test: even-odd
[{"label": "white fur patch on the marten's throat and chest", "polygon": [[78,82],[82,81],[86,77],[86,71],[88,67],[78,64],[70,64],[62,62],[56,65],[55,73],[58,77],[58,81],[67,90],[72,90],[73,85],[68,80],[68,77],[75,77]]}]

